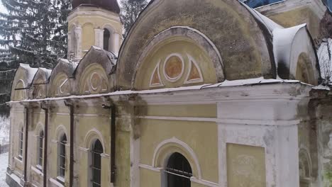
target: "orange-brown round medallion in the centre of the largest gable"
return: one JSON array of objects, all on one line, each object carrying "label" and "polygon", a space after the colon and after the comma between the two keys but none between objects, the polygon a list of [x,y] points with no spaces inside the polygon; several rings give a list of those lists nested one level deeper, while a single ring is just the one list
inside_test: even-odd
[{"label": "orange-brown round medallion in the centre of the largest gable", "polygon": [[184,72],[184,62],[179,54],[172,54],[166,58],[164,74],[168,81],[177,81]]}]

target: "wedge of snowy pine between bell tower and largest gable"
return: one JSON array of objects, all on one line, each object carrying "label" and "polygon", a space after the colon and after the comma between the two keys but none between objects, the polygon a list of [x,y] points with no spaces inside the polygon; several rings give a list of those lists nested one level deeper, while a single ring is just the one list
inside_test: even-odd
[{"label": "wedge of snowy pine between bell tower and largest gable", "polygon": [[129,29],[133,26],[140,11],[148,4],[147,0],[121,0],[121,22],[124,27],[123,37],[126,38]]}]

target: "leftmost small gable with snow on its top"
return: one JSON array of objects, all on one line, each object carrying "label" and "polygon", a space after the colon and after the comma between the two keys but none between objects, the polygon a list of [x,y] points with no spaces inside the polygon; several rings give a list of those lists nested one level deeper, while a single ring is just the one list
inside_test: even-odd
[{"label": "leftmost small gable with snow on its top", "polygon": [[29,98],[29,89],[37,70],[37,68],[31,68],[28,64],[20,64],[11,84],[11,101],[21,101]]}]

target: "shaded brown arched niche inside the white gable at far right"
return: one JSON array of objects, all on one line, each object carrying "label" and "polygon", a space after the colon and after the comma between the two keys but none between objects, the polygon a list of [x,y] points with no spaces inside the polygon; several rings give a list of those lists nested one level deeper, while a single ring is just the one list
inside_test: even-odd
[{"label": "shaded brown arched niche inside the white gable at far right", "polygon": [[314,76],[314,68],[311,65],[309,56],[302,52],[297,60],[297,70],[295,74],[295,79],[304,82],[306,84],[316,85],[317,80]]}]

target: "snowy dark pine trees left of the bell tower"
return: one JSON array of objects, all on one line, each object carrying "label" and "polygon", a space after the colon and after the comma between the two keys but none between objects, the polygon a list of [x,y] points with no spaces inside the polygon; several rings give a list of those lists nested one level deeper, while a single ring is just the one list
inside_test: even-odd
[{"label": "snowy dark pine trees left of the bell tower", "polygon": [[1,0],[0,63],[52,68],[67,54],[69,0]]}]

